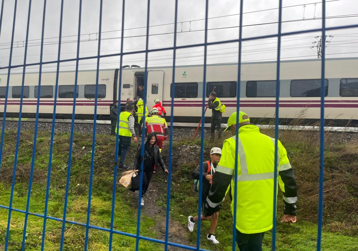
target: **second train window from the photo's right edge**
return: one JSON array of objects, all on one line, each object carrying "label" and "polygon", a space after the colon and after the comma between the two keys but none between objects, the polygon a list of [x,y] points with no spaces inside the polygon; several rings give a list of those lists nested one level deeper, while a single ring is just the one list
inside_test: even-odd
[{"label": "second train window from the photo's right edge", "polygon": [[[328,79],[324,80],[324,96],[328,94]],[[320,97],[321,79],[296,79],[291,80],[291,97]]]}]

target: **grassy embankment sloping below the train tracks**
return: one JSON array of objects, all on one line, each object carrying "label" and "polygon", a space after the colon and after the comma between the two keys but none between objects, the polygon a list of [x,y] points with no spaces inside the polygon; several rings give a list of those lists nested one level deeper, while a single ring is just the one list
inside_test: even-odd
[{"label": "grassy embankment sloping below the train tracks", "polygon": [[[272,131],[266,131],[272,136]],[[358,250],[358,216],[357,205],[357,158],[358,146],[355,142],[345,142],[344,134],[327,134],[325,149],[325,206],[323,250]],[[86,222],[89,171],[91,164],[92,135],[74,137],[71,179],[69,186],[67,219]],[[96,138],[95,168],[93,176],[93,194],[90,224],[110,227],[112,199],[112,169],[114,160],[114,142],[110,136],[98,135]],[[30,202],[30,212],[43,214],[48,154],[49,133],[39,132],[35,171]],[[298,223],[277,226],[277,250],[315,250],[316,219],[318,204],[318,170],[319,147],[316,132],[287,131],[280,134],[280,140],[287,149],[292,166],[296,171],[299,186]],[[0,172],[0,204],[9,205],[11,178],[14,164],[16,134],[6,132],[4,153]],[[62,218],[64,204],[64,188],[68,166],[69,135],[58,133],[54,139],[52,173],[48,214]],[[33,132],[21,132],[21,142],[16,171],[16,185],[13,207],[25,210],[30,163],[32,157]],[[212,144],[205,143],[205,156]],[[84,147],[84,148],[83,148]],[[167,146],[166,146],[167,147]],[[190,148],[191,147],[191,148]],[[197,193],[192,190],[190,172],[198,164],[199,141],[183,139],[174,144],[173,186],[171,193],[171,217],[178,223],[186,225],[187,216],[197,212]],[[128,160],[132,159],[134,147],[131,148]],[[165,153],[164,153],[165,154]],[[130,162],[130,161],[129,161]],[[153,182],[163,184],[164,176],[159,173]],[[166,183],[164,183],[166,186]],[[115,229],[136,233],[136,209],[130,206],[132,198],[124,188],[117,186]],[[281,198],[281,195],[279,195]],[[160,205],[165,205],[166,195],[163,194]],[[281,214],[281,200],[278,202],[278,219]],[[165,215],[163,216],[163,220]],[[8,210],[0,208],[0,249],[3,248]],[[43,219],[29,216],[26,250],[39,250],[41,245]],[[21,247],[24,214],[12,212],[10,250]],[[58,250],[61,237],[61,222],[47,221],[45,250]],[[203,223],[202,247],[209,250],[231,250],[231,213],[228,199],[219,215],[216,236],[221,242],[213,246],[205,240],[209,222]],[[84,246],[85,228],[66,224],[64,245],[67,250],[82,250]],[[142,216],[141,235],[163,238],[162,233],[155,231],[155,221]],[[195,245],[196,234],[188,233],[190,243]],[[109,233],[89,230],[88,250],[108,250]],[[271,246],[271,233],[264,240],[265,250]],[[135,239],[122,235],[113,235],[113,250],[134,250]],[[163,245],[149,241],[140,241],[140,250],[163,250]]]}]

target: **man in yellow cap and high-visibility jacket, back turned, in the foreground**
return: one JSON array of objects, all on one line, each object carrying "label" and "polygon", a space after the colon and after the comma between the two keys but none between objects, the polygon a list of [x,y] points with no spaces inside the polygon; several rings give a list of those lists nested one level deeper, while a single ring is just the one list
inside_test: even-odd
[{"label": "man in yellow cap and high-visibility jacket, back turned, in the foreground", "polygon": [[[231,114],[228,127],[234,135],[223,143],[221,159],[213,175],[206,199],[205,213],[212,215],[221,208],[221,201],[231,184],[231,195],[237,187],[236,242],[240,251],[261,251],[265,231],[272,228],[274,201],[275,139],[260,133],[250,124],[246,113],[239,113],[238,149],[236,150],[236,115]],[[235,153],[238,151],[237,174],[234,174]],[[296,222],[297,186],[287,152],[278,141],[278,184],[283,192],[284,217],[281,222]],[[234,184],[233,175],[237,175]]]}]

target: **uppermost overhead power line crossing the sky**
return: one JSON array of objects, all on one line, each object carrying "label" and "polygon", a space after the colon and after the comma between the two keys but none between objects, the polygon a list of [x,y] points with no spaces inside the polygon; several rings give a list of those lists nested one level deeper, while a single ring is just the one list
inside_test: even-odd
[{"label": "uppermost overhead power line crossing the sky", "polygon": [[[335,2],[335,1],[340,1],[340,0],[330,0],[330,1],[326,1],[326,3]],[[284,8],[290,8],[290,7],[310,5],[310,4],[316,4],[316,3],[297,4],[297,5],[284,6],[284,7],[282,7],[282,9],[284,9]],[[264,9],[264,10],[255,10],[255,11],[244,12],[244,13],[242,13],[242,14],[251,14],[251,13],[256,13],[256,12],[261,12],[261,11],[277,10],[277,9],[279,9],[279,8],[271,8],[271,9]],[[235,15],[240,15],[240,13],[231,14],[231,15],[224,15],[224,16],[214,16],[214,17],[208,18],[208,19],[223,18],[223,17],[235,16]],[[315,18],[315,19],[317,19],[317,18]],[[178,22],[178,23],[176,23],[176,24],[188,23],[188,22],[196,22],[196,21],[202,21],[202,20],[205,20],[205,18],[203,18],[203,19],[189,20],[189,21],[183,21],[183,22]],[[158,26],[171,25],[171,24],[175,24],[175,23],[150,25],[149,27],[158,27]],[[134,28],[127,28],[127,29],[124,29],[124,30],[143,29],[143,28],[147,28],[147,27],[146,27],[146,26],[144,26],[144,27],[134,27]],[[119,32],[119,31],[121,31],[121,30],[108,30],[108,31],[101,32],[101,33],[103,34],[103,33]],[[178,33],[179,33],[179,32],[178,32]],[[91,35],[91,34],[98,34],[98,32],[97,32],[97,33],[96,33],[96,32],[93,32],[93,33],[81,34],[80,36],[82,36],[82,35]],[[64,37],[78,37],[78,34],[76,34],[76,35],[62,36],[62,38],[64,38]],[[50,38],[44,38],[44,39],[54,39],[54,38],[59,38],[59,37],[50,37]],[[37,40],[40,40],[40,39],[30,39],[29,41],[37,41]],[[96,40],[97,40],[97,39],[96,39]],[[24,42],[24,41],[16,41],[16,42],[14,42],[14,44],[15,44],[15,43],[21,43],[21,42]],[[1,46],[1,44],[10,44],[10,43],[0,43],[0,46]],[[18,48],[18,47],[16,47],[16,48]]]}]

